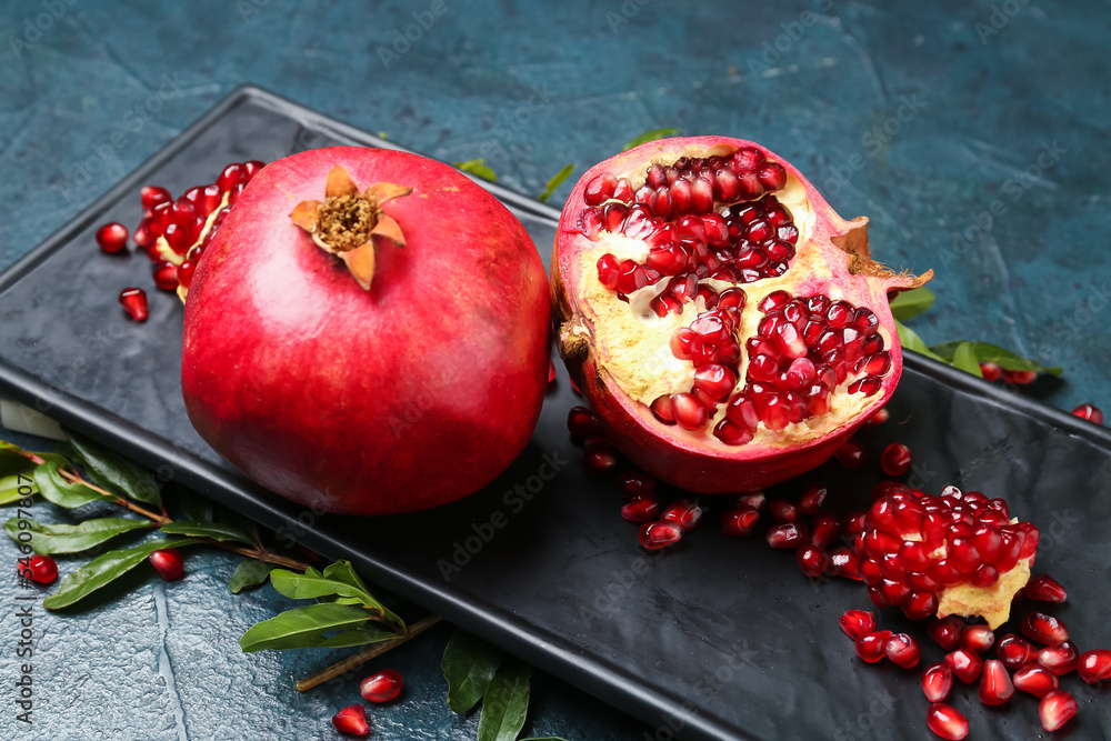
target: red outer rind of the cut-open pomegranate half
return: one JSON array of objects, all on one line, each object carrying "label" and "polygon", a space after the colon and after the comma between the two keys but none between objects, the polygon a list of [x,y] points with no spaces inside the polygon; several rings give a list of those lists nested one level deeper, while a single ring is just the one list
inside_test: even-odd
[{"label": "red outer rind of the cut-open pomegranate half", "polygon": [[[610,388],[612,381],[599,368],[593,352],[584,349],[584,343],[574,342],[573,338],[560,329],[579,314],[579,299],[573,294],[573,287],[578,284],[580,274],[574,242],[580,234],[578,214],[587,207],[587,186],[602,172],[623,172],[641,166],[642,169],[647,168],[653,157],[705,157],[722,148],[735,151],[744,147],[760,150],[802,183],[807,198],[817,212],[811,241],[837,240],[851,251],[857,251],[862,246],[863,254],[867,256],[867,219],[860,217],[845,221],[802,173],[784,159],[754,142],[728,137],[677,137],[651,141],[588,170],[571,191],[563,208],[552,254],[552,307],[559,336],[557,344],[572,381],[590,401],[611,440],[631,461],[659,479],[703,494],[755,491],[818,468],[829,460],[857,428],[891,398],[902,373],[902,352],[897,341],[891,308],[885,300],[887,292],[917,288],[933,274],[933,271],[928,271],[914,279],[891,273],[873,278],[871,286],[864,287],[862,279],[854,281],[857,277],[850,276],[851,261],[847,258],[844,266],[835,267],[831,278],[815,279],[809,286],[798,287],[798,292],[804,293],[807,288],[823,292],[833,280],[839,280],[842,284],[855,283],[860,297],[870,298],[868,307],[879,318],[880,324],[890,330],[892,338],[889,348],[891,370],[884,377],[880,392],[869,402],[867,413],[831,430],[824,437],[779,448],[749,443],[731,451],[709,450],[704,444],[692,441],[683,431],[660,423],[645,404],[633,402],[620,390],[614,393],[615,389]],[[849,299],[859,301],[854,294],[850,294]]]}]

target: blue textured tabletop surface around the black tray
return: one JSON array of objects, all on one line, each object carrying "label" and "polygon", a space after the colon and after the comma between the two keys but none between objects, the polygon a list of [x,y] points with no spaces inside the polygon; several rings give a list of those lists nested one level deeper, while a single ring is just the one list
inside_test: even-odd
[{"label": "blue textured tabletop surface around the black tray", "polygon": [[[383,61],[394,30],[433,6],[444,12],[431,28]],[[499,182],[533,194],[568,162],[581,172],[642,131],[678,127],[767,144],[842,214],[872,218],[882,261],[934,268],[939,303],[912,322],[928,342],[984,340],[1063,366],[1063,382],[1027,392],[1111,407],[1107,2],[0,9],[0,268],[244,81],[441,160],[486,157]],[[238,637],[284,602],[230,595],[232,564],[192,555],[183,582],[137,580],[77,615],[42,617],[30,730],[11,711],[16,589],[0,580],[0,737],[332,738],[327,719],[359,699],[353,681],[302,698],[293,680],[332,657],[241,655]],[[476,719],[443,704],[446,634],[378,662],[408,690],[374,713],[377,738],[473,738]],[[534,735],[640,737],[551,680],[538,680],[532,719]]]}]

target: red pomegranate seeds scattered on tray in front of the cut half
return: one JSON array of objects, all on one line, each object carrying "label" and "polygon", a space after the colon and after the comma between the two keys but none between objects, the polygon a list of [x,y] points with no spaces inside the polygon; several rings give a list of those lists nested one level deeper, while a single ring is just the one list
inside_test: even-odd
[{"label": "red pomegranate seeds scattered on tray in front of the cut half", "polygon": [[[890,413],[880,409],[865,425],[882,424],[889,418]],[[583,441],[588,473],[611,473],[620,467],[615,448],[589,409],[572,408],[568,429]],[[849,454],[843,459],[839,454],[839,459],[849,468],[865,460],[854,439],[845,448]],[[880,458],[880,467],[888,475],[899,477],[910,470],[912,459],[907,445],[891,443]],[[664,505],[655,492],[655,480],[643,471],[621,473],[618,488],[628,499],[621,515],[640,524],[640,543],[645,549],[674,545],[703,521],[705,510],[694,499],[680,497]],[[769,502],[762,492],[722,497],[728,509],[720,520],[721,531],[748,535],[755,531],[763,512],[770,512],[773,523],[764,535],[768,544],[793,550],[807,577],[827,574],[862,581],[877,607],[899,607],[912,620],[932,618],[927,632],[947,653],[924,670],[921,684],[930,702],[927,725],[937,735],[955,740],[969,732],[968,719],[944,702],[953,677],[965,684],[979,681],[979,697],[989,705],[1008,702],[1017,689],[1033,694],[1040,700],[1039,718],[1048,731],[1063,727],[1078,710],[1075,698],[1061,689],[1062,677],[1078,671],[1089,684],[1111,679],[1111,650],[1080,653],[1064,623],[1043,612],[1033,611],[1022,619],[1024,638],[1008,633],[998,644],[995,632],[987,624],[968,622],[957,614],[935,617],[939,594],[945,590],[990,590],[1020,562],[1028,568],[1033,564],[1039,531],[1030,522],[1012,522],[1002,499],[962,492],[953,485],[931,497],[898,481],[881,481],[872,492],[869,510],[837,515],[823,510],[827,495],[825,487],[811,482],[797,501]],[[1041,602],[1061,603],[1067,597],[1048,574],[1030,579],[1020,593]],[[921,661],[918,639],[879,630],[872,612],[849,610],[840,623],[855,642],[857,654],[869,663],[887,658],[910,669]],[[997,658],[984,659],[992,647]]]}]

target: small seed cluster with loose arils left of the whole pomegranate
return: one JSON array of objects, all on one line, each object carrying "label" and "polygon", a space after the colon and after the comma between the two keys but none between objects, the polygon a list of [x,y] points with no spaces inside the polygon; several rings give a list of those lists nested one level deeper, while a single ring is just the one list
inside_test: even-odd
[{"label": "small seed cluster with loose arils left of the whole pomegranate", "polygon": [[[216,182],[190,188],[174,199],[159,186],[144,186],[140,191],[143,218],[132,240],[154,263],[154,286],[163,291],[189,289],[197,263],[204,248],[220,229],[239,194],[264,163],[258,160],[232,162],[220,172]],[[97,244],[104,252],[123,251],[128,229],[119,222],[97,230]],[[137,287],[120,292],[120,304],[136,321],[148,317],[147,292]]]}]

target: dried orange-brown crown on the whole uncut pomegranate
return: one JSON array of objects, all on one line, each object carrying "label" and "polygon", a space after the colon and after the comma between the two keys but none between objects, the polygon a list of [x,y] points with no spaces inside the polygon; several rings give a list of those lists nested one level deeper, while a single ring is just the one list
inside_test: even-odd
[{"label": "dried orange-brown crown on the whole uncut pomegranate", "polygon": [[374,248],[388,242],[404,248],[401,226],[387,216],[382,204],[413,192],[408,186],[378,182],[363,192],[342,166],[328,173],[324,201],[306,200],[294,207],[289,218],[309,232],[313,243],[340,258],[359,286],[370,290],[374,278]]}]

